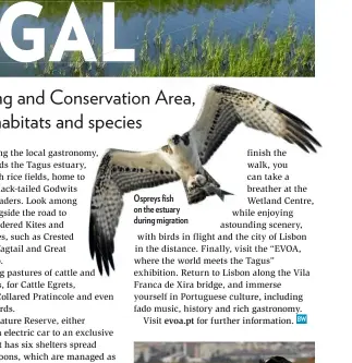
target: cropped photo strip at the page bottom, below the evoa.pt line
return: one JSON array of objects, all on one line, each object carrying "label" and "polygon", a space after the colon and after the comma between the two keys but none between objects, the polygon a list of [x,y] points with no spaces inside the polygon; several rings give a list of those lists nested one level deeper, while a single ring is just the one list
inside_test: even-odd
[{"label": "cropped photo strip at the page bottom, below the evoa.pt line", "polygon": [[134,362],[314,363],[314,342],[135,342]]}]

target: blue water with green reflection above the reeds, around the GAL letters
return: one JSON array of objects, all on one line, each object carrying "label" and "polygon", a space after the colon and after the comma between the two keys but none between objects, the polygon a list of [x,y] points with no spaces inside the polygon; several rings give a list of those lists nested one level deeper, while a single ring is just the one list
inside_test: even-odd
[{"label": "blue water with green reflection above the reeds, around the GAL letters", "polygon": [[[39,19],[20,17],[13,26],[14,41],[23,49],[29,49],[31,41],[24,41],[23,28],[44,27],[46,32],[46,49],[54,44],[70,2],[46,2]],[[156,31],[163,24],[163,37],[171,35],[173,44],[183,44],[192,35],[194,25],[202,37],[214,21],[215,36],[229,34],[232,37],[243,35],[254,23],[262,24],[268,16],[268,34],[287,27],[289,19],[294,14],[295,23],[301,32],[315,25],[314,0],[136,0],[116,2],[116,34],[119,48],[141,49],[142,39],[148,24],[148,36],[153,41]],[[101,44],[101,2],[75,1],[86,33],[96,44]],[[0,16],[10,5],[0,2]],[[33,66],[13,62],[0,48],[0,75],[31,75]],[[110,63],[106,74],[118,74],[125,64]]]}]

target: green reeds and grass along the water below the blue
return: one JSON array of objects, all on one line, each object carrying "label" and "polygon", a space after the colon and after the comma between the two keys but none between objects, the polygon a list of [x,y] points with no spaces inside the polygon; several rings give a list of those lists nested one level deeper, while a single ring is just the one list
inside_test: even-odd
[{"label": "green reeds and grass along the water below the blue", "polygon": [[[197,28],[182,46],[173,46],[172,37],[163,39],[163,27],[149,40],[144,34],[138,59],[125,66],[123,76],[314,76],[315,40],[308,32],[298,34],[291,21],[284,31],[270,39],[266,24],[254,26],[245,35],[232,39],[228,35],[216,38],[213,22],[207,34],[198,39]],[[150,44],[151,43],[151,44]],[[98,62],[84,62],[80,52],[66,57],[62,64],[36,63],[37,75],[101,76],[106,64],[101,50]],[[111,73],[111,72],[110,72]],[[120,74],[117,74],[120,75]]]}]

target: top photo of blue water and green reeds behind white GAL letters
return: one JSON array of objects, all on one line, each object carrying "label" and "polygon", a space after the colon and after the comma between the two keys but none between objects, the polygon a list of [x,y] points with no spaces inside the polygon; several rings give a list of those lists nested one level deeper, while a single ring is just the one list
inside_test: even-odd
[{"label": "top photo of blue water and green reeds behind white GAL letters", "polygon": [[[0,2],[0,19],[13,3],[15,1]],[[46,53],[49,58],[71,1],[37,1],[37,3],[43,5],[40,16],[38,19],[31,15],[20,16],[13,24],[12,36],[17,47],[32,49],[33,41],[23,40],[23,29],[44,28]],[[83,63],[80,52],[68,55],[60,66],[43,59],[34,64],[24,64],[13,61],[0,48],[0,76],[85,75],[85,72],[89,75],[106,76],[206,74],[251,76],[256,75],[254,74],[256,72],[263,73],[263,70],[258,71],[258,65],[253,64],[251,56],[253,51],[258,51],[253,50],[255,41],[268,47],[267,53],[264,51],[260,53],[263,66],[266,66],[268,58],[276,57],[274,64],[267,64],[268,69],[269,65],[271,69],[278,68],[278,71],[275,71],[277,74],[274,75],[314,75],[314,0],[114,1],[116,46],[119,49],[135,49],[134,69],[131,63],[104,62],[102,2],[78,0],[74,3],[99,60],[97,64],[80,68],[78,65]],[[248,32],[254,34],[248,36]],[[71,34],[71,38],[74,36]],[[280,41],[277,41],[278,37]],[[242,48],[240,50],[239,47],[234,48],[234,45],[241,41]],[[280,43],[281,50],[272,49],[276,41]],[[247,49],[243,50],[243,45]],[[196,55],[194,55],[195,48]],[[292,51],[292,55],[290,59],[282,60],[283,56],[277,53],[288,52],[287,49]],[[177,57],[178,51],[180,55]],[[236,55],[244,51],[248,53],[247,59],[243,64],[239,64],[240,59],[235,59]],[[242,53],[241,57],[243,59]],[[301,64],[300,70],[292,70],[292,66],[288,69],[291,64],[286,64],[293,61],[294,57],[300,57],[300,62],[303,62],[304,58],[305,63]],[[223,64],[217,64],[217,61]],[[287,68],[283,69],[282,64]],[[78,71],[74,72],[72,68],[78,68]],[[222,74],[217,74],[221,72]],[[283,74],[288,72],[291,74]]]}]

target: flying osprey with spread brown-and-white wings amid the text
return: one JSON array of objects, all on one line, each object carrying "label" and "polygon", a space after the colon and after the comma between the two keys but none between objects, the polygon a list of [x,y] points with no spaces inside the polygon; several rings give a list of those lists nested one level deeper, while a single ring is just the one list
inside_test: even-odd
[{"label": "flying osprey with spread brown-and-white wings amid the text", "polygon": [[320,146],[311,128],[283,108],[243,90],[226,86],[208,89],[204,106],[193,128],[173,135],[168,144],[154,152],[109,149],[96,177],[89,221],[89,247],[99,273],[114,269],[116,228],[123,207],[123,194],[143,187],[182,181],[189,204],[209,195],[221,199],[227,194],[205,170],[204,165],[234,128],[244,123],[296,144],[304,152]]}]

